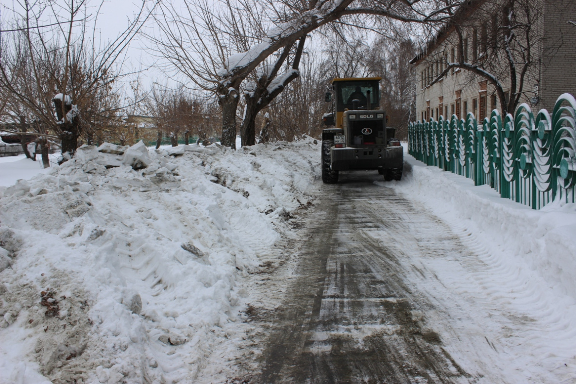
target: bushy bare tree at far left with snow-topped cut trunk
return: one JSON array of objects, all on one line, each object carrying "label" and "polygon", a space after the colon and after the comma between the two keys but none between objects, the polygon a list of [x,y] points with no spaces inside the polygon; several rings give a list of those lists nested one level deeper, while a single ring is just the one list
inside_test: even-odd
[{"label": "bushy bare tree at far left with snow-topped cut trunk", "polygon": [[[94,17],[88,0],[17,4],[22,11],[13,28],[13,44],[5,44],[0,56],[0,87],[41,122],[36,132],[41,145],[47,144],[50,132],[58,136],[65,161],[78,146],[82,122],[97,127],[94,116],[106,120],[113,115],[102,108],[118,108],[102,98],[111,95],[122,77],[122,52],[146,21],[146,0],[127,28],[104,45],[97,43],[95,33],[89,34],[90,25],[96,31],[103,2]],[[55,22],[46,27],[41,22],[45,18]],[[47,159],[43,161],[48,166]]]}]

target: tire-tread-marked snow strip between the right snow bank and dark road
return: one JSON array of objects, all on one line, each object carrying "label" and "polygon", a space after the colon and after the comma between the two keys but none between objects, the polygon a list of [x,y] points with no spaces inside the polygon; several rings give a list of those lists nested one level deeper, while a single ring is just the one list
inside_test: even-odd
[{"label": "tire-tread-marked snow strip between the right snow bank and dark road", "polygon": [[[499,318],[491,341],[526,380],[574,382],[576,380],[576,305],[558,297],[535,271],[522,268],[515,255],[490,252],[483,239],[465,223],[451,223],[476,257],[460,260],[467,273],[454,279],[454,289]],[[507,260],[512,259],[513,261]],[[479,268],[484,265],[484,268]],[[472,280],[472,282],[471,282]],[[529,355],[526,356],[526,351]],[[505,352],[505,353],[504,353]]]}]

